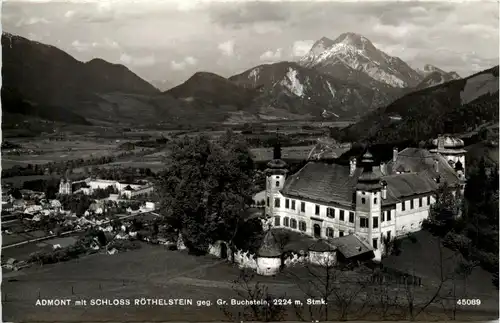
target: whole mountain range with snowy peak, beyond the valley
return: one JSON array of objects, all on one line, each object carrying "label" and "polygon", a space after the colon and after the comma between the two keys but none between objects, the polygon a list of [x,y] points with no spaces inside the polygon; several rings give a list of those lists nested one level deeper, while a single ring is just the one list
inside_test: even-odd
[{"label": "whole mountain range with snowy peak, beyond the valley", "polygon": [[260,65],[229,78],[197,72],[175,87],[168,80],[153,86],[123,65],[80,62],[7,33],[2,57],[4,114],[81,124],[352,119],[459,77],[430,65],[414,70],[354,33],[321,38],[298,62]]}]

